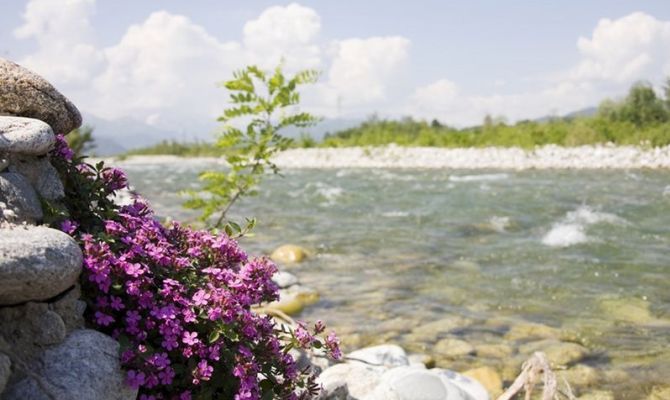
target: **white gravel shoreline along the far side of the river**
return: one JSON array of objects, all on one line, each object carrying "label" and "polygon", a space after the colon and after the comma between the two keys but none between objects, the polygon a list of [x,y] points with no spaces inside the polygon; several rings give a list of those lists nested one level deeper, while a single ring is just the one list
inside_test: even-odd
[{"label": "white gravel shoreline along the far side of the river", "polygon": [[[175,156],[132,156],[124,164],[175,162]],[[193,159],[223,162],[222,159]],[[431,169],[670,169],[670,146],[543,146],[521,148],[347,147],[290,149],[274,157],[281,168]]]}]

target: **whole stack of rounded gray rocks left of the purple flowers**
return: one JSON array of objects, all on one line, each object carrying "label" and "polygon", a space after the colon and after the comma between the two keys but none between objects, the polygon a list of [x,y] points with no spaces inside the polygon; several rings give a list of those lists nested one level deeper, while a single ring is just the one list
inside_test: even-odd
[{"label": "whole stack of rounded gray rocks left of the purple flowers", "polygon": [[81,125],[51,84],[0,58],[0,398],[134,399],[119,345],[84,328],[77,281],[82,253],[40,225],[42,200],[63,185],[49,162],[54,133]]}]

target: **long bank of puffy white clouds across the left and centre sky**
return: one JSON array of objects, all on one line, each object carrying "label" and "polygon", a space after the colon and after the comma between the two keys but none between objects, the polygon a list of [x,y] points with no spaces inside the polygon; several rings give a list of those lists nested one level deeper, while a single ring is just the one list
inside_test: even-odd
[{"label": "long bank of puffy white clouds across the left and centre sky", "polygon": [[244,65],[271,68],[281,59],[289,73],[324,71],[322,83],[308,89],[306,108],[331,115],[338,99],[345,107],[374,107],[408,58],[409,41],[402,37],[324,43],[319,14],[296,3],[264,10],[244,25],[239,42],[218,38],[185,16],[156,11],[106,48],[96,46],[94,12],[95,0],[30,0],[15,35],[36,39],[38,49],[20,62],[85,111],[157,127],[213,126],[227,100],[217,82]]}]

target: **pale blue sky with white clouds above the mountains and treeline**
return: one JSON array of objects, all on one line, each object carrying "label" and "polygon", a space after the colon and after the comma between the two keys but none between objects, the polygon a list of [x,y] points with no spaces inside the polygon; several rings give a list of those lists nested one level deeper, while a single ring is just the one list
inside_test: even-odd
[{"label": "pale blue sky with white clouds above the mountains and treeline", "polygon": [[[658,1],[30,0],[0,4],[0,55],[81,109],[156,126],[213,121],[247,63],[317,68],[326,117],[454,125],[562,114],[670,74]],[[207,124],[205,124],[207,125]]]}]

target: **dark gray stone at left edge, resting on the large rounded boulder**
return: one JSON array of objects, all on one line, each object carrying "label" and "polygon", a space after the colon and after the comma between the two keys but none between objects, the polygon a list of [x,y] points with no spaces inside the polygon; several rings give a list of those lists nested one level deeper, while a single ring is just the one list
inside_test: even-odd
[{"label": "dark gray stone at left edge, resting on the large rounded boulder", "polygon": [[35,223],[44,217],[37,193],[23,175],[0,173],[0,202],[0,221]]}]

